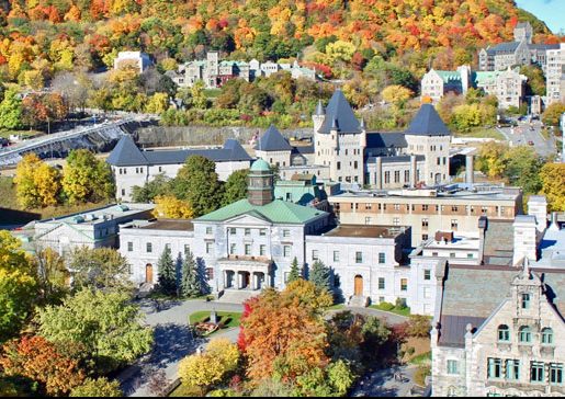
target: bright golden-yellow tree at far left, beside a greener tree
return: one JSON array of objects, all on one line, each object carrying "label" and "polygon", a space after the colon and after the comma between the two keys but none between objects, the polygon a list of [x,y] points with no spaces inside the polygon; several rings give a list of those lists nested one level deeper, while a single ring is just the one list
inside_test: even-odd
[{"label": "bright golden-yellow tree at far left, beside a greener tree", "polygon": [[35,153],[27,153],[18,163],[14,183],[15,195],[22,207],[33,208],[57,205],[60,174],[43,162]]}]

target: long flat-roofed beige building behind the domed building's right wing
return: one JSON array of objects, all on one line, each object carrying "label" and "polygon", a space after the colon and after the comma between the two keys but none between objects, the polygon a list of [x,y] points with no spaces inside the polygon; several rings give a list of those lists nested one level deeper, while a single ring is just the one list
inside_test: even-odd
[{"label": "long flat-roofed beige building behind the domed building's right wing", "polygon": [[331,195],[328,201],[342,224],[410,226],[415,246],[436,231],[475,232],[478,237],[482,216],[512,223],[521,214],[519,189],[453,189],[354,191]]}]

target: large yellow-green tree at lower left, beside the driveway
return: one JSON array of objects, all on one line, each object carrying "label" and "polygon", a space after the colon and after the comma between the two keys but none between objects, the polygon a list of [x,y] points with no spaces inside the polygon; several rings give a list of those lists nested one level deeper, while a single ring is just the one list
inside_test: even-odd
[{"label": "large yellow-green tree at lower left, beside the driveway", "polygon": [[37,312],[38,332],[53,342],[84,345],[99,373],[108,373],[147,353],[152,331],[142,327],[139,307],[125,293],[84,288],[60,306]]}]

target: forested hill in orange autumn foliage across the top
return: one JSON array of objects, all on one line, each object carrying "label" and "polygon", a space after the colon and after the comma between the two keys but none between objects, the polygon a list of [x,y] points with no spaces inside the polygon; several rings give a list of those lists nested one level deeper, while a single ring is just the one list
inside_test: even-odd
[{"label": "forested hill in orange autumn foliage across the top", "polygon": [[[430,64],[473,62],[477,48],[509,41],[530,21],[512,0],[0,0],[0,79],[36,70],[94,70],[117,50],[184,61],[219,49],[231,58],[302,60],[362,68],[380,54],[416,75]],[[337,44],[336,44],[337,43]],[[343,45],[347,43],[347,46]],[[331,44],[329,46],[328,44]],[[328,72],[329,73],[329,72]],[[30,76],[30,73],[27,73]]]}]

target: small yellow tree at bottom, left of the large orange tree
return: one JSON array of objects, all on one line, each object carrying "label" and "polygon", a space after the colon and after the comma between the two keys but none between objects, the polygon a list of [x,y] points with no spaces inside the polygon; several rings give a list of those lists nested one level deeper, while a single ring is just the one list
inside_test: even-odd
[{"label": "small yellow tree at bottom, left of the large orange tree", "polygon": [[210,341],[202,354],[184,357],[179,364],[179,377],[189,387],[205,389],[222,381],[224,376],[236,369],[239,351],[228,339]]}]

